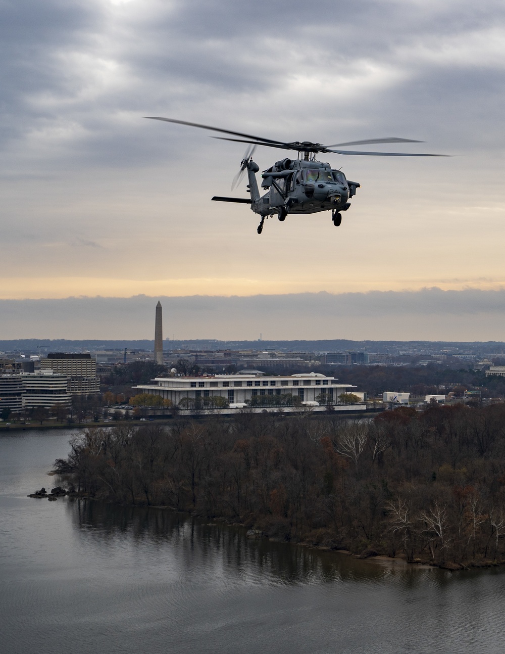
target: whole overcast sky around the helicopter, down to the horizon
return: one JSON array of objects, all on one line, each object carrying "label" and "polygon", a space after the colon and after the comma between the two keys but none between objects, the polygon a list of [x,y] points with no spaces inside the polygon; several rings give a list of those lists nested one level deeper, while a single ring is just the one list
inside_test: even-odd
[{"label": "whole overcast sky around the helicopter, down to the horizon", "polygon": [[[468,291],[505,287],[502,1],[0,0],[0,51],[0,298],[206,296],[212,317],[196,329],[187,303],[180,338],[446,339],[447,296],[416,293],[436,286],[463,291],[468,340],[505,339],[503,294]],[[288,216],[259,236],[246,205],[210,202],[230,194],[245,146],[153,115],[289,141],[420,139],[402,149],[453,156],[325,155],[362,185],[342,226]],[[321,291],[345,294],[330,297],[348,298],[349,320],[316,333]],[[417,318],[398,322],[370,291]],[[286,299],[298,326],[283,294],[301,294]],[[221,315],[222,296],[272,298],[252,324]],[[477,319],[483,296],[494,308]],[[89,302],[101,309],[86,334],[64,313],[39,334],[50,302],[2,302],[0,337],[151,336],[150,317],[118,326]]]}]

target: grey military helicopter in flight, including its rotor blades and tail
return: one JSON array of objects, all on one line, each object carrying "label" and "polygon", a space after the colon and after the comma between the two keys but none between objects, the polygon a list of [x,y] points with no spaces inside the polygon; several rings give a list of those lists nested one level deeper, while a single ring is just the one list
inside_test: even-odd
[{"label": "grey military helicopter in flight, including its rotor blades and tail", "polygon": [[[348,141],[347,143],[334,143],[333,145],[321,145],[310,141],[275,141],[264,139],[260,136],[244,134],[230,129],[220,129],[208,125],[175,120],[174,118],[162,118],[161,116],[146,116],[152,120],[164,120],[165,122],[187,125],[201,129],[210,129],[224,134],[231,134],[240,138],[229,138],[214,136],[214,139],[221,141],[235,141],[236,143],[248,143],[240,170],[233,180],[232,190],[238,186],[245,172],[248,173],[248,193],[251,198],[225,198],[214,196],[213,200],[220,202],[238,202],[250,204],[252,211],[261,216],[257,233],[263,232],[265,218],[277,215],[283,221],[290,213],[310,214],[319,211],[331,211],[331,219],[334,226],[340,226],[342,222],[342,211],[347,211],[351,206],[349,200],[355,196],[356,189],[360,188],[358,182],[351,182],[346,179],[342,170],[334,169],[329,163],[316,161],[319,152],[332,152],[334,154],[359,154],[367,156],[389,156],[389,157],[440,157],[445,154],[419,154],[412,152],[362,152],[357,150],[333,150],[350,145],[371,145],[372,143],[423,143],[413,139],[399,139],[388,137],[385,139],[367,139],[365,141]],[[295,150],[298,152],[297,159],[282,159],[275,162],[269,169],[261,173],[263,181],[261,188],[267,192],[261,196],[256,180],[256,173],[259,171],[257,163],[253,162],[252,156],[258,145],[269,148],[280,148],[282,150]],[[302,156],[301,156],[302,155]]]}]

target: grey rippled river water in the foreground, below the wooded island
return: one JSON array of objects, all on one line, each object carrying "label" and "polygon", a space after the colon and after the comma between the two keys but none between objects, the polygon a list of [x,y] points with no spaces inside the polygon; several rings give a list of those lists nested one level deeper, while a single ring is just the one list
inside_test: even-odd
[{"label": "grey rippled river water in the foreground, below the wooded island", "polygon": [[505,649],[501,569],[386,569],[157,509],[27,498],[71,435],[0,436],[2,654]]}]

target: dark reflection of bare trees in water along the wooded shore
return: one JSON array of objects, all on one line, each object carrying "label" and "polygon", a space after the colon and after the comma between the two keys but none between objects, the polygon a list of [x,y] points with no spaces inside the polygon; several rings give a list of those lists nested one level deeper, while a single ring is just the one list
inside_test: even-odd
[{"label": "dark reflection of bare trees in water along the wooded shore", "polygon": [[244,579],[267,576],[280,583],[363,581],[380,583],[395,577],[406,587],[423,583],[429,575],[439,583],[451,574],[413,566],[387,567],[336,552],[310,549],[291,543],[249,539],[246,529],[206,523],[183,513],[164,509],[115,506],[90,500],[67,500],[67,511],[79,530],[105,544],[117,534],[134,542],[148,540],[152,547],[169,547],[184,562],[184,569],[216,566]]}]

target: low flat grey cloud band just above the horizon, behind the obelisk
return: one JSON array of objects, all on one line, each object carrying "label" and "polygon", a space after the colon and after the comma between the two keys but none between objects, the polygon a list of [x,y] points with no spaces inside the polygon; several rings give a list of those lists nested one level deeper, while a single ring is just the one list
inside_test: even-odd
[{"label": "low flat grey cloud band just above the horizon, behind the obelisk", "polygon": [[143,339],[163,305],[177,339],[500,341],[504,290],[0,300],[0,339]]}]

